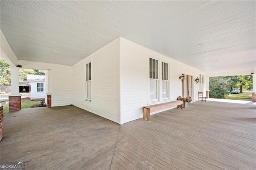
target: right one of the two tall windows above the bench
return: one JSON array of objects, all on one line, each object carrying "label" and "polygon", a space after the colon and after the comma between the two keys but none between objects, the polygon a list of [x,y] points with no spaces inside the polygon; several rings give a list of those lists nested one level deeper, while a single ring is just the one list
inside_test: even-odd
[{"label": "right one of the two tall windows above the bench", "polygon": [[162,99],[168,99],[168,63],[162,62]]}]

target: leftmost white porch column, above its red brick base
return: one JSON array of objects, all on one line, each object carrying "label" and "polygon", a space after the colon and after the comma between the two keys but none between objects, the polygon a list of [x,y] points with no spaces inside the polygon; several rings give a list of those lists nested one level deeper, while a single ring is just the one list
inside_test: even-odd
[{"label": "leftmost white porch column, above its red brick base", "polygon": [[11,95],[20,96],[19,67],[10,67],[10,69],[11,69]]}]

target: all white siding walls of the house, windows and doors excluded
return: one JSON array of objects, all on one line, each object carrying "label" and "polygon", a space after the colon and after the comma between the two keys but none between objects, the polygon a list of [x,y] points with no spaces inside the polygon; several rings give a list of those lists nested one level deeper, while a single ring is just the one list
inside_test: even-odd
[{"label": "all white siding walls of the house, windows and doors excluded", "polygon": [[[168,100],[149,102],[149,57],[169,63]],[[92,101],[84,100],[88,62],[92,63]],[[124,38],[105,45],[72,67],[51,64],[50,68],[48,89],[44,92],[52,94],[52,107],[73,104],[119,124],[142,118],[143,106],[176,100],[182,95],[182,73],[194,79],[199,74],[206,75]],[[199,84],[194,83],[193,101],[198,100],[198,90]]]}]

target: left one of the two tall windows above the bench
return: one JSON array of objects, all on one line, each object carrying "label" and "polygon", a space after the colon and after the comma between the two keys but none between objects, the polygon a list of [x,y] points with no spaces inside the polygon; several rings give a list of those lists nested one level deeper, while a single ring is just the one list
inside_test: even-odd
[{"label": "left one of the two tall windows above the bench", "polygon": [[158,100],[158,60],[149,58],[150,101]]}]

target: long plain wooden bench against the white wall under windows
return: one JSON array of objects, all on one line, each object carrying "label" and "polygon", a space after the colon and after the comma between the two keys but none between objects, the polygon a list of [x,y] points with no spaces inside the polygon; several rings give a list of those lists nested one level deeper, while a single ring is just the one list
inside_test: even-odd
[{"label": "long plain wooden bench against the white wall under windows", "polygon": [[183,109],[183,101],[182,100],[176,100],[176,101],[171,101],[167,103],[160,103],[157,105],[150,105],[150,106],[144,106],[143,107],[143,119],[147,118],[148,121],[150,121],[150,111],[160,111],[163,109],[168,109],[171,107],[177,106],[177,109]]}]

